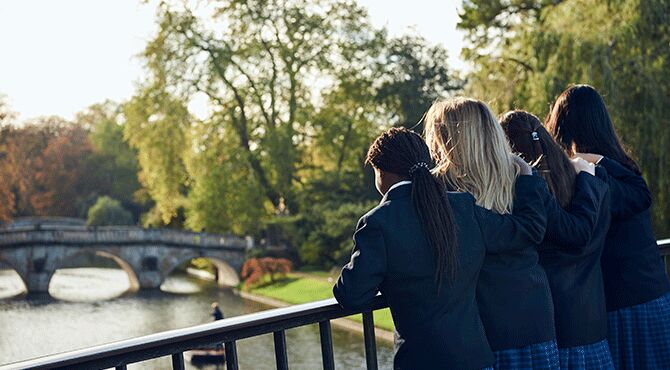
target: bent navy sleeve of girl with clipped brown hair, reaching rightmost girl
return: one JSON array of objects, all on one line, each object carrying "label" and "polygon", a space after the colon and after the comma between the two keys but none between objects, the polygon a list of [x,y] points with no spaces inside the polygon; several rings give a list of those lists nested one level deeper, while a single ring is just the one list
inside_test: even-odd
[{"label": "bent navy sleeve of girl with clipped brown hair, reaching rightmost girl", "polygon": [[591,240],[601,206],[607,195],[607,183],[597,176],[580,172],[568,210],[553,195],[547,198],[547,234],[543,246],[578,248]]}]

